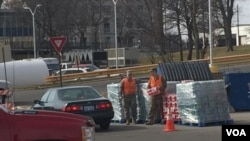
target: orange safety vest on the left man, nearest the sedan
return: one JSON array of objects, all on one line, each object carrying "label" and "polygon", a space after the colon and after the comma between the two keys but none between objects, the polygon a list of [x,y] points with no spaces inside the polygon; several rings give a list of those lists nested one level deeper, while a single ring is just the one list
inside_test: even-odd
[{"label": "orange safety vest on the left man, nearest the sedan", "polygon": [[123,79],[123,94],[130,95],[136,92],[136,82],[135,79],[128,80],[128,78]]}]

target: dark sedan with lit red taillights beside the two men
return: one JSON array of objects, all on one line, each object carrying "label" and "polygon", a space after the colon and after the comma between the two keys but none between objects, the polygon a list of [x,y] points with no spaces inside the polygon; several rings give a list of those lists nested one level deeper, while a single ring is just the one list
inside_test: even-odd
[{"label": "dark sedan with lit red taillights beside the two men", "polygon": [[90,116],[102,129],[108,129],[114,117],[111,102],[91,86],[50,88],[40,100],[34,100],[32,109]]}]

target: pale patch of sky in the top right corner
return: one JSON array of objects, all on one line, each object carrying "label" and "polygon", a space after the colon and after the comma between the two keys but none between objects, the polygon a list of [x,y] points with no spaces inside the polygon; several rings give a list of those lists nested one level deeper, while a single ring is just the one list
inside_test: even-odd
[{"label": "pale patch of sky in the top right corner", "polygon": [[[235,0],[235,11],[239,8],[239,24],[250,25],[250,0]],[[237,24],[237,13],[234,14],[232,19],[232,25]]]}]

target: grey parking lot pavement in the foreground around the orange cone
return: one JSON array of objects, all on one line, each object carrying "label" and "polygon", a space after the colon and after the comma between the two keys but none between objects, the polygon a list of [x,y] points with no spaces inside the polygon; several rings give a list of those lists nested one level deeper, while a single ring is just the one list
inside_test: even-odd
[{"label": "grey parking lot pavement in the foreground around the orange cone", "polygon": [[[234,124],[250,125],[250,111],[230,113]],[[165,132],[164,124],[144,125],[112,123],[109,130],[96,128],[96,140],[102,141],[221,141],[221,125],[189,126],[175,124],[175,131]]]}]

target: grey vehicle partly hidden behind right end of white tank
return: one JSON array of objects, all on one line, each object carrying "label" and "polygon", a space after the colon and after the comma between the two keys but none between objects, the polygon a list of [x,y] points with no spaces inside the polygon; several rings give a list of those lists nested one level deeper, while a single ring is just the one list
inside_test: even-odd
[{"label": "grey vehicle partly hidden behind right end of white tank", "polygon": [[57,58],[37,58],[37,59],[42,59],[49,70],[50,75],[52,75],[55,71],[60,69],[60,64],[59,64],[59,60]]}]

